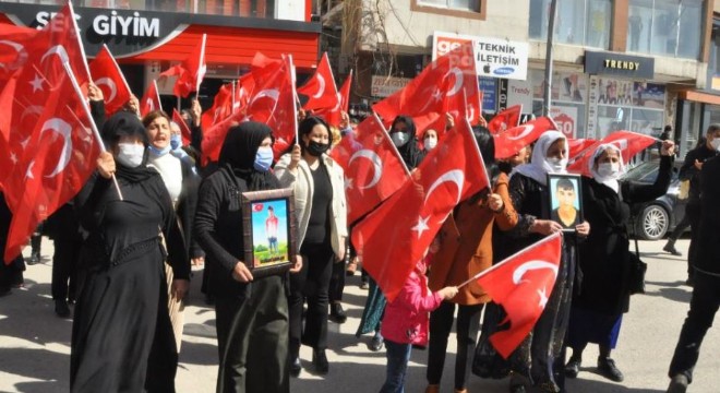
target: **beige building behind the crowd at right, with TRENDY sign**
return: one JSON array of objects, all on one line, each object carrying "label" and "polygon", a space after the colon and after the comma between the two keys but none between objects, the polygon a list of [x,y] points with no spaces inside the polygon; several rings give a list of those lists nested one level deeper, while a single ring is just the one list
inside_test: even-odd
[{"label": "beige building behind the crowd at right, with TRENDY sign", "polygon": [[[516,104],[540,115],[550,3],[346,0],[343,52],[358,70],[357,98],[381,99],[454,38],[472,38],[485,115]],[[686,152],[720,120],[711,90],[717,70],[720,93],[716,8],[713,0],[557,0],[550,114],[562,131],[658,136],[671,124]]]}]

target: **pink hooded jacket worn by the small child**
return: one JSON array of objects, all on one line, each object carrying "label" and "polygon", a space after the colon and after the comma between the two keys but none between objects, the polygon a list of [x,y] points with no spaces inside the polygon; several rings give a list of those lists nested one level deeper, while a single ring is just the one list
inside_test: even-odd
[{"label": "pink hooded jacket worn by the small child", "polygon": [[443,298],[428,289],[424,262],[418,263],[405,281],[395,300],[387,303],[381,333],[394,343],[428,345],[430,311],[440,307]]}]

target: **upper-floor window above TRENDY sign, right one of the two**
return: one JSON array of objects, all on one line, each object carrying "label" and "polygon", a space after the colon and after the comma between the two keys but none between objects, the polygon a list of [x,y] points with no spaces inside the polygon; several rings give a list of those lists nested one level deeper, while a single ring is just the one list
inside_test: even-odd
[{"label": "upper-floor window above TRENDY sign, right one of the two", "polygon": [[627,50],[697,59],[700,21],[703,0],[631,0]]}]

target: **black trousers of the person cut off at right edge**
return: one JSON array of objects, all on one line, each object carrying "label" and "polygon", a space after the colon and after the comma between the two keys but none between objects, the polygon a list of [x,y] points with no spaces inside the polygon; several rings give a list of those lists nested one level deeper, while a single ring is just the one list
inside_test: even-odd
[{"label": "black trousers of the person cut off at right edge", "polygon": [[720,277],[695,272],[694,278],[691,308],[687,311],[683,329],[680,331],[680,340],[668,372],[670,378],[681,373],[685,374],[691,382],[693,381],[693,369],[700,356],[703,338],[708,329],[712,326],[712,320],[720,307]]}]

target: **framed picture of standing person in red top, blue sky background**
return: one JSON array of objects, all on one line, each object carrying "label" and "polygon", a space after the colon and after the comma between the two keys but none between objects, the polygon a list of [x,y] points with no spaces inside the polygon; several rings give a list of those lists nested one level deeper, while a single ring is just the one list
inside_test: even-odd
[{"label": "framed picture of standing person in red top, blue sky background", "polygon": [[242,193],[244,261],[254,277],[288,271],[295,264],[292,189]]}]

